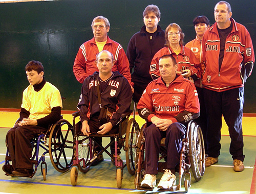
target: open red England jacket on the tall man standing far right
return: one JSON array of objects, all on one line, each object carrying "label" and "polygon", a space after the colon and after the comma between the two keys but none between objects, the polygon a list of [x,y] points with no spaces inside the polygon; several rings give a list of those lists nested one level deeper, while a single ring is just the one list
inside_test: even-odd
[{"label": "open red England jacket on the tall man standing far right", "polygon": [[233,28],[226,38],[223,62],[219,71],[220,38],[215,22],[204,34],[203,85],[214,91],[243,87],[254,63],[252,41],[247,29],[230,18]]}]

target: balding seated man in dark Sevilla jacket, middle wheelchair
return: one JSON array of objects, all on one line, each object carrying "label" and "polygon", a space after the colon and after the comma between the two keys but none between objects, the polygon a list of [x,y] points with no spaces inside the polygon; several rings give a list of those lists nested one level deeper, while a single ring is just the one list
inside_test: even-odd
[{"label": "balding seated man in dark Sevilla jacket, middle wheelchair", "polygon": [[[129,82],[118,71],[112,72],[113,55],[109,51],[103,50],[96,55],[95,64],[99,72],[95,71],[93,75],[84,80],[77,105],[80,109],[81,131],[87,136],[93,133],[101,135],[117,133],[119,118],[121,114],[130,110],[132,102],[132,90]],[[98,100],[97,85],[99,85],[101,104]],[[108,108],[108,112],[112,114],[108,120],[99,117],[101,107]],[[102,137],[95,139],[101,144]],[[100,148],[95,147],[95,152],[99,151]],[[112,144],[111,154],[114,155],[114,153],[115,147]],[[94,161],[94,165],[101,161],[103,161],[102,155]]]}]

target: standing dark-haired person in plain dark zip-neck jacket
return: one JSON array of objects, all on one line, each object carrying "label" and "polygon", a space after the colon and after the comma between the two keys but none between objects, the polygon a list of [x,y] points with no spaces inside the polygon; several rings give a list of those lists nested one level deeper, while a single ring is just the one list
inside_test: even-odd
[{"label": "standing dark-haired person in plain dark zip-neck jacket", "polygon": [[158,25],[160,10],[156,5],[148,5],[143,12],[144,26],[140,32],[134,34],[128,44],[126,55],[130,63],[130,71],[134,68],[132,82],[134,82],[134,102],[139,102],[150,77],[151,61],[162,47],[164,47],[164,31]]}]

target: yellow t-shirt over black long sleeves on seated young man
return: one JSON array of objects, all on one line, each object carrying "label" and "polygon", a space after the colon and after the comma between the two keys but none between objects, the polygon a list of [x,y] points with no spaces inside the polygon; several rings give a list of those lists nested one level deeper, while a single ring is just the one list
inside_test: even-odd
[{"label": "yellow t-shirt over black long sleeves on seated young man", "polygon": [[30,112],[29,117],[39,119],[49,115],[53,107],[62,108],[62,100],[58,88],[46,82],[40,91],[29,85],[23,92],[22,108]]}]

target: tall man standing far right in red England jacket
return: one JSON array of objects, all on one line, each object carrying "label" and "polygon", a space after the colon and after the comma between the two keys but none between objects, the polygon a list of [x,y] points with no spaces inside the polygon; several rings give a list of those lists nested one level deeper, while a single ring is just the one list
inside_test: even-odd
[{"label": "tall man standing far right in red England jacket", "polygon": [[231,138],[229,152],[234,171],[244,170],[242,117],[244,83],[251,75],[254,52],[249,32],[234,21],[230,4],[221,1],[214,9],[215,23],[204,34],[204,99],[208,118],[206,167],[218,162],[222,115]]}]

